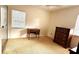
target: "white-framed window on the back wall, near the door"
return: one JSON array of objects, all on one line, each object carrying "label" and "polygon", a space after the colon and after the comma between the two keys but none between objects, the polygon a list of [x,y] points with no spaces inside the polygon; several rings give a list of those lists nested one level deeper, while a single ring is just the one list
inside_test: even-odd
[{"label": "white-framed window on the back wall, near the door", "polygon": [[25,28],[25,12],[12,10],[12,27]]}]

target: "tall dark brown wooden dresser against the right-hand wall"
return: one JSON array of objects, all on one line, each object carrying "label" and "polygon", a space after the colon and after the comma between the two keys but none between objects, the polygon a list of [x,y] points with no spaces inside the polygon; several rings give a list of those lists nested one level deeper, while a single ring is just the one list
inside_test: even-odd
[{"label": "tall dark brown wooden dresser against the right-hand wall", "polygon": [[63,46],[64,48],[69,47],[70,40],[68,39],[70,29],[69,28],[62,28],[56,27],[54,42]]}]

